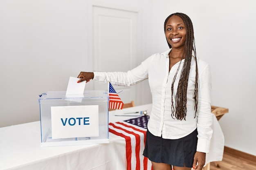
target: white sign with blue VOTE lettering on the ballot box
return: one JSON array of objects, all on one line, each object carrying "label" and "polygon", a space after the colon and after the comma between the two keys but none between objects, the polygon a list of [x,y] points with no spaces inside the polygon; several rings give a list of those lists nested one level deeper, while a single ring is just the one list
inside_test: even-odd
[{"label": "white sign with blue VOTE lettering on the ballot box", "polygon": [[52,139],[99,136],[99,106],[52,106]]}]

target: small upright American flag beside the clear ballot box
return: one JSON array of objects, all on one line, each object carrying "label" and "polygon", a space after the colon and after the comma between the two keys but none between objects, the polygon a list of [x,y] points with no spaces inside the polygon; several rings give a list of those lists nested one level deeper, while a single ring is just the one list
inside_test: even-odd
[{"label": "small upright American flag beside the clear ballot box", "polygon": [[121,101],[120,97],[117,95],[117,92],[109,82],[108,86],[108,95],[109,95],[109,104],[108,108],[112,109],[122,109],[124,106],[124,103]]}]

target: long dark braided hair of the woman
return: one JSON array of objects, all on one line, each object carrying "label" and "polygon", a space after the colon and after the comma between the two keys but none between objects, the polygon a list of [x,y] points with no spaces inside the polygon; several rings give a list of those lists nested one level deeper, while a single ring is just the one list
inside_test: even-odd
[{"label": "long dark braided hair of the woman", "polygon": [[[175,97],[175,111],[174,111],[174,106],[173,106],[173,84],[175,82],[175,79],[177,77],[177,73],[180,69],[180,65],[177,69],[177,72],[173,78],[173,82],[172,82],[172,86],[171,86],[171,93],[172,93],[172,117],[175,116],[176,119],[179,120],[186,120],[186,112],[187,112],[187,108],[186,108],[186,95],[187,95],[187,87],[188,87],[188,80],[189,80],[189,71],[190,71],[190,66],[191,66],[191,59],[192,59],[192,51],[195,55],[195,91],[194,91],[194,100],[195,100],[195,115],[196,112],[198,110],[198,65],[197,65],[197,59],[196,59],[196,52],[195,52],[195,38],[194,38],[194,31],[193,31],[193,24],[192,21],[190,20],[189,16],[187,16],[184,13],[173,13],[171,15],[169,15],[165,22],[164,22],[164,33],[166,30],[166,23],[168,21],[169,18],[171,18],[171,16],[173,15],[177,15],[180,18],[182,18],[184,24],[185,24],[185,28],[186,28],[186,42],[185,42],[185,47],[184,50],[186,50],[186,56],[185,56],[185,60],[184,60],[184,65],[182,67],[182,72],[180,75],[180,80],[179,80],[179,84],[177,87],[177,94]],[[166,38],[167,40],[167,38]],[[168,43],[168,41],[167,41]],[[170,48],[171,44],[168,43],[168,46]],[[184,52],[183,52],[184,53]],[[183,57],[182,57],[183,58]],[[182,60],[182,59],[181,59]],[[181,61],[180,61],[181,64]],[[174,114],[175,112],[175,114]]]}]

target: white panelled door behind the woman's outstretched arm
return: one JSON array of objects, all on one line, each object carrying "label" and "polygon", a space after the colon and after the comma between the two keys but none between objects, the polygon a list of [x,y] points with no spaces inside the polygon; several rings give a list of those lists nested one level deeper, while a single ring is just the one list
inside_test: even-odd
[{"label": "white panelled door behind the woman's outstretched arm", "polygon": [[[92,8],[94,71],[128,71],[138,57],[138,13],[107,7]],[[113,86],[124,103],[136,103],[136,85]],[[94,90],[107,90],[108,84],[94,81]]]}]

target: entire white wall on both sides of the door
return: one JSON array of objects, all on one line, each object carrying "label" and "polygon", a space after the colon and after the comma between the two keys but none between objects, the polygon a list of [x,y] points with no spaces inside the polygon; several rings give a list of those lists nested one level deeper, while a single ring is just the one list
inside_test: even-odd
[{"label": "entire white wall on both sides of the door", "polygon": [[[104,1],[105,2],[105,1]],[[225,145],[256,155],[256,2],[253,0],[109,0],[141,9],[141,59],[165,51],[164,20],[190,16],[197,55],[211,65],[212,105]],[[65,91],[70,76],[90,71],[90,3],[82,0],[0,0],[0,127],[39,120],[38,95]],[[150,102],[146,82],[145,99]]]}]

